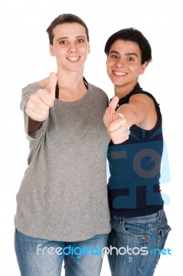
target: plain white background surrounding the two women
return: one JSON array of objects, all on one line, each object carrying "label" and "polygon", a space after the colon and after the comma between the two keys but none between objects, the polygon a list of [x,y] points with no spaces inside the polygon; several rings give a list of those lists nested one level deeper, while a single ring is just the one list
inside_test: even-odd
[{"label": "plain white background surrounding the two women", "polygon": [[[134,27],[141,30],[151,43],[153,61],[142,75],[140,84],[160,103],[171,168],[171,181],[162,184],[162,191],[171,199],[165,210],[172,228],[166,248],[172,250],[172,255],[160,258],[155,276],[182,275],[181,10],[181,1],[177,0],[1,0],[0,275],[19,275],[13,244],[13,219],[15,197],[28,156],[23,114],[19,110],[21,88],[56,70],[55,60],[48,51],[46,28],[55,17],[65,12],[77,14],[86,22],[91,53],[84,75],[90,83],[103,88],[109,97],[113,96],[113,86],[106,75],[106,39],[121,28]],[[110,275],[106,257],[101,275]]]}]

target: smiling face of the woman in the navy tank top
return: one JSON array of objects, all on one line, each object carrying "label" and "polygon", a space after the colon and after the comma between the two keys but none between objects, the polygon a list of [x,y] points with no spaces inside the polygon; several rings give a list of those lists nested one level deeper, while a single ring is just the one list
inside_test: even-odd
[{"label": "smiling face of the woman in the navy tank top", "polygon": [[116,86],[126,90],[126,94],[133,90],[139,75],[143,74],[147,62],[141,63],[141,50],[137,43],[117,39],[111,45],[106,62],[107,73]]}]

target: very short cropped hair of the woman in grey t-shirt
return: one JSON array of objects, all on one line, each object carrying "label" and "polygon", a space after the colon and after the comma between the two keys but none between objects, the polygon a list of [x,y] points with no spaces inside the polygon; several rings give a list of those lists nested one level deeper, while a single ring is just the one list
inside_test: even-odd
[{"label": "very short cropped hair of the woman in grey t-shirt", "polygon": [[52,34],[52,30],[59,24],[64,24],[64,23],[79,23],[82,26],[84,26],[85,30],[86,30],[86,38],[89,42],[89,34],[88,34],[88,27],[86,26],[86,23],[84,23],[84,21],[77,17],[77,15],[75,14],[71,14],[71,13],[64,13],[64,14],[60,14],[58,17],[56,17],[52,23],[50,23],[50,26],[48,27],[48,29],[46,30],[46,32],[48,32],[48,37],[49,37],[49,41],[50,44],[52,45],[52,41],[53,41],[53,34]]}]

